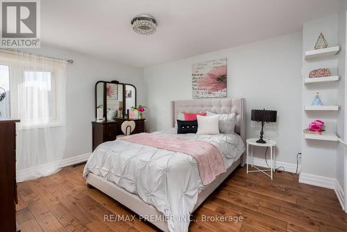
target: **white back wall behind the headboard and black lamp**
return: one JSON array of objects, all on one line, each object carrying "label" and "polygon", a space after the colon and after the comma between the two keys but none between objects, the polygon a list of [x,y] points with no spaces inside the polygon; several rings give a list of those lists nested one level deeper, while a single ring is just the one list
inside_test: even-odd
[{"label": "white back wall behind the headboard and black lamp", "polygon": [[[192,64],[225,57],[228,97],[246,99],[247,138],[260,133],[259,128],[250,127],[251,109],[278,110],[278,129],[265,129],[265,136],[277,140],[278,160],[296,163],[302,138],[302,33],[144,68],[149,105],[147,126],[151,131],[169,128],[170,101],[192,99]],[[257,155],[263,157],[264,151]]]}]

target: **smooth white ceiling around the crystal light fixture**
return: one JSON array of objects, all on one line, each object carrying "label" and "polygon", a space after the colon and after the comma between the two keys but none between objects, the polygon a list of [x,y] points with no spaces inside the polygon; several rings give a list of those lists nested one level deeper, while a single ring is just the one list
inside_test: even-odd
[{"label": "smooth white ceiling around the crystal light fixture", "polygon": [[[42,0],[43,44],[146,67],[300,31],[339,0]],[[131,19],[149,13],[153,35]]]}]

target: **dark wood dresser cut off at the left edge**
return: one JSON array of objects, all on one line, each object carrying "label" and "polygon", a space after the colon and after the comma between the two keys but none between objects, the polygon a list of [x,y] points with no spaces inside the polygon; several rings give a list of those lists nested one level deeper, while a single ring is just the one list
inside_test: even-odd
[{"label": "dark wood dresser cut off at the left edge", "polygon": [[17,231],[16,122],[0,120],[0,231]]}]

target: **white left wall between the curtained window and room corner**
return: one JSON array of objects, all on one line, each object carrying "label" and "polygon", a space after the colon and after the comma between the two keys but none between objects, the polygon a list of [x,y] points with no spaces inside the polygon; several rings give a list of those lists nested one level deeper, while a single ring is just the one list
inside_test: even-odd
[{"label": "white left wall between the curtained window and room corner", "polygon": [[94,113],[94,85],[96,81],[117,80],[137,88],[137,99],[146,99],[142,68],[121,65],[110,60],[85,56],[81,53],[42,46],[40,49],[23,49],[55,58],[74,60],[67,65],[67,147],[65,157],[87,154],[92,151],[92,121]]}]

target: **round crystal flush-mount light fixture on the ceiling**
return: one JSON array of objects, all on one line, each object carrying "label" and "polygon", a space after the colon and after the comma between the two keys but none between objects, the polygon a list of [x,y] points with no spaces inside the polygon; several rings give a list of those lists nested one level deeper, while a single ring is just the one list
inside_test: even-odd
[{"label": "round crystal flush-mount light fixture on the ceiling", "polygon": [[157,21],[152,15],[137,15],[131,20],[133,30],[140,35],[151,35],[157,31]]}]

